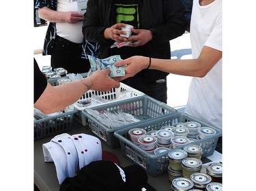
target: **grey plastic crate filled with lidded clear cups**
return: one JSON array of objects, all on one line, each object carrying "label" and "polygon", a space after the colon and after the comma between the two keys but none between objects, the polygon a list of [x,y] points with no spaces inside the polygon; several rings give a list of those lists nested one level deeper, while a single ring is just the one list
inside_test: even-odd
[{"label": "grey plastic crate filled with lidded clear cups", "polygon": [[[143,122],[141,124],[134,124],[129,126],[128,128],[122,128],[118,131],[115,131],[114,136],[119,139],[122,154],[137,164],[140,164],[141,167],[147,171],[148,174],[152,176],[157,176],[167,171],[169,165],[169,158],[165,157],[168,155],[169,151],[162,152],[160,154],[150,154],[145,150],[141,149],[139,145],[136,145],[132,141],[130,141],[130,136],[128,135],[128,131],[131,128],[144,128],[146,131],[159,130],[162,126],[173,125],[176,122],[199,122],[201,126],[208,126],[214,128],[216,130],[216,134],[211,137],[200,139],[190,144],[201,144],[203,148],[203,155],[201,158],[205,158],[207,156],[211,156],[214,153],[216,148],[216,144],[218,141],[218,137],[222,136],[222,131],[219,128],[210,126],[193,116],[190,116],[185,113],[176,113],[171,116],[164,116],[162,118],[158,118],[155,120],[151,120],[148,122]],[[182,146],[176,147],[183,149]]]}]

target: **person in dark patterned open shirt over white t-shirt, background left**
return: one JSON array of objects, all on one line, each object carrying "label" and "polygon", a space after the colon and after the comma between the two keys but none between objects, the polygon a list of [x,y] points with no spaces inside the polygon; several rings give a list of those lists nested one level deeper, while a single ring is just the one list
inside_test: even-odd
[{"label": "person in dark patterned open shirt over white t-shirt, background left", "polygon": [[83,37],[83,14],[87,1],[37,0],[40,18],[49,21],[42,55],[51,55],[51,66],[63,67],[68,73],[85,73],[90,69],[87,55],[100,54],[97,43]]}]

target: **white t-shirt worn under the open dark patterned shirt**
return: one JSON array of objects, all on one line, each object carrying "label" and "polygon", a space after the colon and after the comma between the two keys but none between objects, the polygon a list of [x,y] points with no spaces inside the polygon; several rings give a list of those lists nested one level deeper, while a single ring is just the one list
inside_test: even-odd
[{"label": "white t-shirt worn under the open dark patterned shirt", "polygon": [[[79,8],[77,1],[74,0],[58,0],[57,11],[58,12],[78,12]],[[56,33],[59,37],[68,39],[74,43],[81,44],[83,42],[83,21],[79,21],[73,24],[68,22],[56,22]]]}]

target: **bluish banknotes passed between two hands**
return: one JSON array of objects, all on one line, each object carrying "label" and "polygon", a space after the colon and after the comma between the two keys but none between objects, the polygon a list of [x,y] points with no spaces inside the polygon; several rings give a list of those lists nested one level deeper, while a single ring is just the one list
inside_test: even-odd
[{"label": "bluish banknotes passed between two hands", "polygon": [[111,73],[109,73],[109,77],[120,77],[125,75],[125,66],[122,66],[122,67],[115,66],[115,63],[122,60],[120,55],[114,55],[104,59],[100,59],[100,58],[96,58],[94,56],[88,55],[88,58],[91,64],[91,69],[88,73],[88,76],[94,73],[94,71],[107,69],[107,68],[111,70]]}]

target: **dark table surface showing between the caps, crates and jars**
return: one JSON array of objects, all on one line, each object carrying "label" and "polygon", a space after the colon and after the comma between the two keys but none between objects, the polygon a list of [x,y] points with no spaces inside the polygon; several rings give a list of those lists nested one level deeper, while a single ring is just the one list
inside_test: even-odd
[{"label": "dark table surface showing between the caps, crates and jars", "polygon": [[[89,130],[89,127],[82,126],[79,122],[76,122],[76,120],[73,120],[72,131],[67,133],[70,135],[78,133],[94,135]],[[44,154],[42,151],[42,144],[51,141],[52,138],[53,137],[48,137],[34,142],[34,183],[41,191],[57,191],[60,186],[57,179],[55,164],[53,162],[44,162]],[[119,166],[121,167],[135,164],[122,155],[121,147],[111,149],[108,145],[102,143],[102,148],[105,151],[115,154],[119,159]],[[222,161],[222,154],[214,151],[212,156],[208,156],[208,158],[204,158],[202,161],[204,165],[208,162],[220,162]],[[148,175],[148,183],[159,191],[171,190],[171,182],[169,181],[169,175],[167,172],[156,177]]]}]

